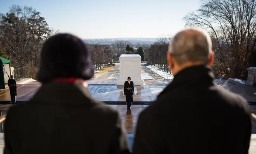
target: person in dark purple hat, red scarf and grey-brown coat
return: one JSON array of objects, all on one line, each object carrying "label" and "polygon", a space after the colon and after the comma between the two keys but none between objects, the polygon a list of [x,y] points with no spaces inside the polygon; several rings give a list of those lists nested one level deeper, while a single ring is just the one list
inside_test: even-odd
[{"label": "person in dark purple hat, red scarf and grey-brown coat", "polygon": [[94,68],[87,45],[58,34],[44,43],[40,56],[42,86],[8,110],[4,153],[130,154],[119,112],[88,89]]}]

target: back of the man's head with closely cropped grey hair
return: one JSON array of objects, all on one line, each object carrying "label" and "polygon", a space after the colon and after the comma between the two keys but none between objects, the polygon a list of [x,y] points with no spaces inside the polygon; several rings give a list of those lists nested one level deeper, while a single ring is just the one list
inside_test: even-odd
[{"label": "back of the man's head with closely cropped grey hair", "polygon": [[187,62],[202,62],[207,65],[212,53],[212,41],[202,29],[185,29],[174,36],[168,52],[178,65]]}]

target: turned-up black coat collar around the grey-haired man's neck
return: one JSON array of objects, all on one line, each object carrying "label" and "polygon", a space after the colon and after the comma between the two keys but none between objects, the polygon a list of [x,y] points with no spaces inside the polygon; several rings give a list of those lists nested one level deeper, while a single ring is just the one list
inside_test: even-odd
[{"label": "turned-up black coat collar around the grey-haired man's neck", "polygon": [[188,67],[178,72],[173,78],[172,83],[170,83],[170,85],[168,85],[158,95],[158,97],[166,94],[167,92],[179,86],[209,87],[215,84],[214,79],[215,77],[212,72],[212,69],[208,68],[207,66],[199,65]]}]

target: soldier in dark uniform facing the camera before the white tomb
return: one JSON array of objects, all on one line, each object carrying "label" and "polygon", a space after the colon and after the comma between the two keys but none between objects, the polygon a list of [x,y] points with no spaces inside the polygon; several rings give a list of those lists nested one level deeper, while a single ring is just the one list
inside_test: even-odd
[{"label": "soldier in dark uniform facing the camera before the white tomb", "polygon": [[126,98],[127,110],[130,110],[133,102],[132,95],[134,92],[134,86],[133,82],[131,81],[131,77],[128,77],[127,80],[128,81],[124,82],[124,95]]}]

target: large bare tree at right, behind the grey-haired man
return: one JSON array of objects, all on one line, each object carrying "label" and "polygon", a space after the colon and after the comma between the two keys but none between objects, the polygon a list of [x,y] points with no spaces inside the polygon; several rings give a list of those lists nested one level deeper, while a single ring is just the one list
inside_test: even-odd
[{"label": "large bare tree at right, behind the grey-haired man", "polygon": [[184,20],[186,26],[210,29],[216,66],[225,67],[222,76],[245,79],[256,41],[255,0],[202,0],[200,8]]}]

